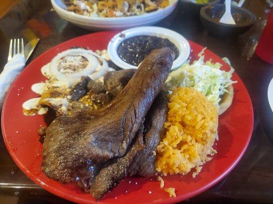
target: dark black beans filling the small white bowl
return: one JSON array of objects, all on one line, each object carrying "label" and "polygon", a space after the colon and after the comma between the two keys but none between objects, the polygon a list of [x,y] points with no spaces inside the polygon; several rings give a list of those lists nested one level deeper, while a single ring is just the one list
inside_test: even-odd
[{"label": "dark black beans filling the small white bowl", "polygon": [[175,59],[179,56],[179,50],[167,38],[160,38],[149,35],[139,35],[123,40],[117,48],[119,57],[128,64],[138,66],[152,50],[170,47],[175,53]]}]

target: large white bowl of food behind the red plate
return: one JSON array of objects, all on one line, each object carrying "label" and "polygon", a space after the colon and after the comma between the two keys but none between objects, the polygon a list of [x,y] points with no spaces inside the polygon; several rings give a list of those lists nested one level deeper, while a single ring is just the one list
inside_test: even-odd
[{"label": "large white bowl of food behind the red plate", "polygon": [[60,17],[81,28],[89,30],[115,30],[157,23],[174,11],[177,1],[178,0],[170,0],[170,5],[168,7],[151,13],[113,18],[83,16],[67,11],[66,5],[62,3],[61,0],[51,0],[51,4]]}]

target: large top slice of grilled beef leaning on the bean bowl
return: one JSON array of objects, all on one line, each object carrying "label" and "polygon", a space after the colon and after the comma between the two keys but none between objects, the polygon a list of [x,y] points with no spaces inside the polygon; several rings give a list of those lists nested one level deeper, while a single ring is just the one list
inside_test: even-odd
[{"label": "large top slice of grilled beef leaning on the bean bowl", "polygon": [[78,180],[88,170],[121,157],[135,137],[153,100],[163,88],[174,61],[170,48],[154,50],[124,89],[106,107],[56,118],[48,127],[42,170],[62,183]]}]

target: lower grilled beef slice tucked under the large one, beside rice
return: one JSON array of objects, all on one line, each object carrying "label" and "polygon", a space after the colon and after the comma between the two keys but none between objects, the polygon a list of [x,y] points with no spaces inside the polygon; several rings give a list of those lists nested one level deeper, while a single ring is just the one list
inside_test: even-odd
[{"label": "lower grilled beef slice tucked under the large one, beside rice", "polygon": [[89,182],[91,183],[90,193],[95,199],[100,199],[104,193],[117,186],[120,180],[127,175],[151,176],[155,174],[156,156],[153,151],[156,150],[160,137],[164,134],[166,115],[167,99],[165,93],[161,91],[146,115],[144,136],[142,127],[138,130],[136,142],[131,143],[127,153],[123,157],[106,162],[93,183]]}]

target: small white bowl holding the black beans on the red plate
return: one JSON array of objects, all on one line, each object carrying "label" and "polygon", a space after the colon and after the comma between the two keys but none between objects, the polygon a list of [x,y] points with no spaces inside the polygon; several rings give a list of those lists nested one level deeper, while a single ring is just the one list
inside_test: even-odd
[{"label": "small white bowl holding the black beans on the red plate", "polygon": [[161,38],[167,38],[172,43],[175,44],[175,46],[179,50],[179,56],[174,61],[172,69],[175,69],[181,66],[187,60],[188,56],[190,56],[190,52],[191,52],[190,44],[188,44],[188,41],[179,33],[176,33],[169,29],[160,28],[160,27],[138,27],[138,28],[128,29],[116,34],[110,40],[108,44],[108,52],[109,52],[110,58],[120,68],[122,69],[137,68],[134,65],[124,62],[118,56],[117,48],[118,48],[118,45],[123,40],[134,37],[134,36],[139,36],[139,35],[151,35],[151,36],[157,36]]}]

